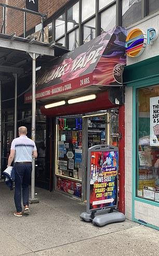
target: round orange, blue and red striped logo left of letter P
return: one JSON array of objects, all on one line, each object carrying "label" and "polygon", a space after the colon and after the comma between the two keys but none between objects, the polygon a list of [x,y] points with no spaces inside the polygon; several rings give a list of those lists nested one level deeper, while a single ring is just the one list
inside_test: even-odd
[{"label": "round orange, blue and red striped logo left of letter P", "polygon": [[141,29],[132,30],[125,42],[126,54],[129,57],[138,57],[143,53],[147,43],[147,36]]}]

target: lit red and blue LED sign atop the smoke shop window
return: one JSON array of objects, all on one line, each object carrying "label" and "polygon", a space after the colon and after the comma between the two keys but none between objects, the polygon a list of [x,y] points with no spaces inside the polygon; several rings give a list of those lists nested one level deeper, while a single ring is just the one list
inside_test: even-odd
[{"label": "lit red and blue LED sign atop the smoke shop window", "polygon": [[82,130],[82,118],[60,118],[59,130]]}]

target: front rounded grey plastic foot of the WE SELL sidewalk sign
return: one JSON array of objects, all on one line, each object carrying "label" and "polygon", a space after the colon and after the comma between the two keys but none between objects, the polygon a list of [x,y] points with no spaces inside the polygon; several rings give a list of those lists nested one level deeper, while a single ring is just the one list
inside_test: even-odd
[{"label": "front rounded grey plastic foot of the WE SELL sidewalk sign", "polygon": [[[88,213],[87,213],[88,214]],[[122,212],[111,212],[102,215],[97,215],[92,220],[92,223],[97,226],[104,226],[114,222],[123,222],[126,217]]]}]

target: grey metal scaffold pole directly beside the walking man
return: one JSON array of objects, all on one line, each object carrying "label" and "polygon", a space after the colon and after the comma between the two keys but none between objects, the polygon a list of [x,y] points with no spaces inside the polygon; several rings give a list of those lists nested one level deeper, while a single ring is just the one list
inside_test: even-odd
[{"label": "grey metal scaffold pole directly beside the walking man", "polygon": [[[36,58],[39,56],[35,53],[30,54],[32,57],[32,140],[35,142],[35,117],[36,117]],[[32,176],[31,176],[31,199],[30,203],[38,203],[39,200],[35,198],[35,158],[32,162]]]}]

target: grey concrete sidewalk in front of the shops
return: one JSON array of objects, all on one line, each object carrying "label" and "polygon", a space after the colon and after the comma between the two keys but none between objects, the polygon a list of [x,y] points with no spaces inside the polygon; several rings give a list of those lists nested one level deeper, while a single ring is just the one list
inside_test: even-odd
[{"label": "grey concrete sidewalk in front of the shops", "polygon": [[83,222],[86,205],[36,188],[40,202],[16,217],[14,191],[0,183],[0,256],[159,255],[159,232],[126,220],[104,227]]}]

